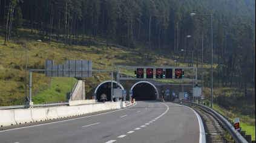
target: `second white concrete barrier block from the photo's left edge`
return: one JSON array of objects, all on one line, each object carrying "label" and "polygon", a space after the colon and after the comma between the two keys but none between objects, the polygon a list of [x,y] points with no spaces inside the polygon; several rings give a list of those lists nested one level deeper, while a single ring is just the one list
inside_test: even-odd
[{"label": "second white concrete barrier block from the photo's left edge", "polygon": [[15,121],[17,124],[26,124],[34,122],[31,116],[31,109],[15,109]]}]

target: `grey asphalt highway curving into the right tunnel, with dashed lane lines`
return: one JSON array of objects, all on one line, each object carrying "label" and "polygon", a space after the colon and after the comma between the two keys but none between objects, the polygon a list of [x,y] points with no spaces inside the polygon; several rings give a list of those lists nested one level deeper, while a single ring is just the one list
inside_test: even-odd
[{"label": "grey asphalt highway curving into the right tunnel, with dashed lane lines", "polygon": [[[29,125],[29,124],[28,124]],[[0,131],[1,143],[199,143],[200,124],[189,107],[157,101],[99,115]]]}]

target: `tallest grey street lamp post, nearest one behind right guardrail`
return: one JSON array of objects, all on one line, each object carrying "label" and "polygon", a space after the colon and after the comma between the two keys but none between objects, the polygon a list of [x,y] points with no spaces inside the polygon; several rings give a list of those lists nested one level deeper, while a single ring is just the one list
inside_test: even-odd
[{"label": "tallest grey street lamp post, nearest one behind right guardrail", "polygon": [[191,16],[211,16],[211,33],[212,33],[212,54],[211,54],[211,108],[213,107],[213,31],[212,31],[212,14],[195,14],[195,13],[191,13]]}]

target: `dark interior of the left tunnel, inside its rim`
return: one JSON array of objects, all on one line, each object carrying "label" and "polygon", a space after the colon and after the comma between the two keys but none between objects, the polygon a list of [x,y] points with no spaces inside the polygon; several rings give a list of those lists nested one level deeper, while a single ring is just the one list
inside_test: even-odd
[{"label": "dark interior of the left tunnel, inside its rim", "polygon": [[[116,87],[116,83],[113,83],[113,88],[117,88]],[[97,89],[96,94],[97,94],[97,100],[99,102],[102,102],[102,100],[100,100],[100,97],[101,97],[102,94],[106,94],[107,95],[107,100],[105,100],[105,101],[111,101],[111,82],[102,84]]]}]

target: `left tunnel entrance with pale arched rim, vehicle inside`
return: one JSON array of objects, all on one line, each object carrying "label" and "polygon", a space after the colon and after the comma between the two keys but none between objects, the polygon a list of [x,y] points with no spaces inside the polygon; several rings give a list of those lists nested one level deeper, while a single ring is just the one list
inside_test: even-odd
[{"label": "left tunnel entrance with pale arched rim, vehicle inside", "polygon": [[[113,81],[114,89],[117,88],[116,85],[117,85],[117,82]],[[123,89],[123,86],[121,84],[120,84],[120,87]],[[100,100],[100,97],[102,94],[107,95],[107,100],[105,101],[111,101],[111,81],[105,81],[103,83],[100,83],[99,86],[97,86],[94,93],[96,94],[96,98],[99,102],[103,102],[102,100]]]}]

